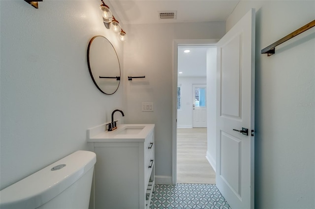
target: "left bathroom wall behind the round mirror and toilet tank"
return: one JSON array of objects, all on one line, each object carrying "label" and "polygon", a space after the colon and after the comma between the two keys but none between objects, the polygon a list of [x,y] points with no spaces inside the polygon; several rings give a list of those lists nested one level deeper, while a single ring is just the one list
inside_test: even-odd
[{"label": "left bathroom wall behind the round mirror and toilet tank", "polygon": [[44,0],[35,9],[0,0],[0,189],[87,150],[86,130],[110,121],[115,108],[125,110],[124,85],[102,94],[87,66],[90,39],[103,35],[123,67],[123,45],[104,27],[99,5]]}]

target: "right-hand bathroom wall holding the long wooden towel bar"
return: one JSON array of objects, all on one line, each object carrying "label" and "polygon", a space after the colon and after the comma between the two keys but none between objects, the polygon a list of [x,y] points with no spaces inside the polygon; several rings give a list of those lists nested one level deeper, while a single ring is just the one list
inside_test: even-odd
[{"label": "right-hand bathroom wall holding the long wooden towel bar", "polygon": [[315,208],[315,29],[261,49],[315,19],[315,1],[242,0],[231,28],[256,8],[255,208]]}]

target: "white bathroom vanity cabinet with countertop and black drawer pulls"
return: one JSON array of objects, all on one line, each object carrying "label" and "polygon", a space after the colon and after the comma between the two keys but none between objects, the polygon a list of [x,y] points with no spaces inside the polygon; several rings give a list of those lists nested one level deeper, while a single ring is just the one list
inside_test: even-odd
[{"label": "white bathroom vanity cabinet with countertop and black drawer pulls", "polygon": [[[94,209],[149,209],[155,184],[154,124],[106,125],[88,130],[97,161]],[[93,200],[92,200],[93,201]]]}]

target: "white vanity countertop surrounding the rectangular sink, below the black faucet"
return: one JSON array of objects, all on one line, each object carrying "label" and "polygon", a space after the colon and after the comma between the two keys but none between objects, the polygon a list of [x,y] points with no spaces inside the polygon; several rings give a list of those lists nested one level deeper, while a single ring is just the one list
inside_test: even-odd
[{"label": "white vanity countertop surrounding the rectangular sink, below the black faucet", "polygon": [[[144,127],[136,134],[120,134],[126,128]],[[143,142],[155,124],[121,124],[114,131],[107,131],[106,124],[88,129],[88,142]]]}]

